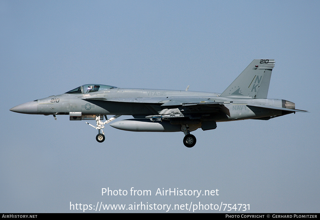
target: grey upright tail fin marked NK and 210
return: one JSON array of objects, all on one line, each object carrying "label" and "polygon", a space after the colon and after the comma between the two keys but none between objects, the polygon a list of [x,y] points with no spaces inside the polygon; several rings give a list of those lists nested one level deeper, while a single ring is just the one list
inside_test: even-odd
[{"label": "grey upright tail fin marked NK and 210", "polygon": [[221,97],[243,99],[267,98],[274,59],[256,59],[221,93]]}]

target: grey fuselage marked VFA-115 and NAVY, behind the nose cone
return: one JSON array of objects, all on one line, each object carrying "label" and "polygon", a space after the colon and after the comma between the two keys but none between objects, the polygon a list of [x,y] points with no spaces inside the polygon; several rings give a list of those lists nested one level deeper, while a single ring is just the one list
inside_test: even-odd
[{"label": "grey fuselage marked VFA-115 and NAVY, behind the nose cone", "polygon": [[[166,102],[179,100],[187,102],[192,99],[198,102],[226,102],[230,115],[213,116],[210,120],[231,121],[250,118],[261,118],[282,115],[281,110],[252,109],[247,104],[262,104],[283,107],[280,99],[229,99],[219,97],[218,93],[194,92],[182,90],[159,90],[159,89],[132,89],[112,88],[103,92],[92,92],[84,94],[61,94],[38,99],[37,111],[31,114],[64,114],[70,112],[82,112],[83,115],[140,115],[148,116],[159,113]],[[152,105],[152,108],[150,107]],[[29,113],[29,114],[30,114]],[[201,112],[199,112],[201,113]],[[206,120],[206,119],[205,119]]]}]

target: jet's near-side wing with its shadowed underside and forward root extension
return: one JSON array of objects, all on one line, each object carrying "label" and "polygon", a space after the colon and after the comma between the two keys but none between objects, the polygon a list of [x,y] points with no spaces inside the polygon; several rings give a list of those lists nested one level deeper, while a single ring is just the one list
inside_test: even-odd
[{"label": "jet's near-side wing with its shadowed underside and forward root extension", "polygon": [[[229,109],[224,105],[230,102],[215,102],[208,98],[199,97],[169,97],[165,100],[163,97],[108,100],[103,98],[88,98],[85,100],[95,102],[96,104],[99,102],[101,107],[112,102],[118,104],[124,103],[124,105],[137,105],[141,113],[133,115],[134,118],[149,118],[152,121],[168,120],[171,124],[206,124],[203,122],[213,122],[230,116]],[[146,111],[142,111],[142,106],[147,108],[151,115],[146,115]]]}]

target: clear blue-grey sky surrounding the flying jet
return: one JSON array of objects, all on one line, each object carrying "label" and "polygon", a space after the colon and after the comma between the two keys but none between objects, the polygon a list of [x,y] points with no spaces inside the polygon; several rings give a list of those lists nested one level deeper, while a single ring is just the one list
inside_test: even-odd
[{"label": "clear blue-grey sky surrounding the flying jet", "polygon": [[[319,9],[318,1],[1,1],[0,212],[81,211],[70,202],[319,212]],[[260,58],[276,61],[268,98],[310,113],[217,123],[193,132],[190,149],[183,133],[108,126],[100,144],[83,121],[9,111],[88,83],[221,93]],[[152,195],[101,196],[108,187]],[[220,194],[156,196],[158,188]]]}]

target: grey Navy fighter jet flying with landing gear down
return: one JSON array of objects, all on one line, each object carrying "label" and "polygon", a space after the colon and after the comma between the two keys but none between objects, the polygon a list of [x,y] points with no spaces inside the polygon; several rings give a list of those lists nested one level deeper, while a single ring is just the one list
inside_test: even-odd
[{"label": "grey Navy fighter jet flying with landing gear down", "polygon": [[[10,109],[24,114],[69,115],[70,120],[95,120],[96,140],[103,142],[104,125],[121,115],[133,119],[110,126],[135,132],[183,132],[183,143],[191,148],[198,128],[212,130],[217,122],[244,119],[269,120],[295,112],[295,104],[283,99],[268,99],[274,59],[255,59],[222,93],[186,90],[119,88],[87,84],[61,95],[26,102]],[[107,119],[107,115],[115,115]],[[107,120],[104,121],[103,117]],[[104,122],[103,122],[104,121]]]}]

